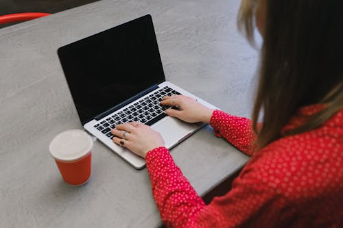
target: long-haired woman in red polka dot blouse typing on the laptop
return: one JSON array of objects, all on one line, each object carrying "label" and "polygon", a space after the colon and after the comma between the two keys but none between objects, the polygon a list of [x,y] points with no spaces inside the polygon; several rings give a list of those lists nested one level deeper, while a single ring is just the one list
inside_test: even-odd
[{"label": "long-haired woman in red polka dot blouse typing on the laptop", "polygon": [[[184,96],[169,116],[209,123],[251,159],[223,197],[205,205],[161,136],[118,125],[114,142],[145,157],[154,199],[170,227],[343,227],[343,2],[244,0],[239,25],[263,36],[259,87],[247,118]],[[263,124],[257,120],[263,112]],[[123,133],[126,138],[123,139]]]}]

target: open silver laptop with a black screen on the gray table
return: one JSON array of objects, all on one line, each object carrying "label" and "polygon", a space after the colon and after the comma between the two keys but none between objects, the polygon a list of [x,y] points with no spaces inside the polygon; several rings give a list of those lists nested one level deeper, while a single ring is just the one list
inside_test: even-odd
[{"label": "open silver laptop with a black screen on the gray table", "polygon": [[160,104],[163,96],[185,94],[216,108],[165,81],[150,15],[60,47],[58,57],[84,129],[137,169],[145,160],[113,142],[115,125],[150,125],[171,149],[204,124],[167,116],[164,110],[171,107]]}]

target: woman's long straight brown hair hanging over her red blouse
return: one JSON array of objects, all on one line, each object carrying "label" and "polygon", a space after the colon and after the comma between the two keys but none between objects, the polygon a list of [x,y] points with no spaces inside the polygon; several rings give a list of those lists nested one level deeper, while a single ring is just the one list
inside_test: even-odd
[{"label": "woman's long straight brown hair hanging over her red blouse", "polygon": [[[261,0],[259,0],[261,1]],[[343,1],[266,0],[259,85],[252,112],[257,146],[281,138],[281,129],[299,107],[324,108],[286,132],[320,127],[343,107]],[[238,25],[253,43],[257,0],[242,0]],[[257,121],[263,112],[263,125]]]}]

